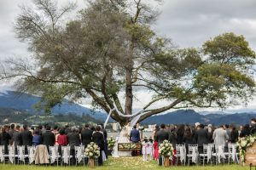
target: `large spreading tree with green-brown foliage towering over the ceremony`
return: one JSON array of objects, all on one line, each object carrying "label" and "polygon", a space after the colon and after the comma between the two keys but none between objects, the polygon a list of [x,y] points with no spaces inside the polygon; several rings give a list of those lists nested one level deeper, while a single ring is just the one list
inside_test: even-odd
[{"label": "large spreading tree with green-brown foliage towering over the ceremony", "polygon": [[[73,4],[34,3],[37,8],[22,8],[15,20],[32,59],[7,60],[1,79],[15,77],[17,88],[43,97],[45,108],[90,97],[106,112],[116,105],[128,116],[111,116],[125,125],[141,90],[152,99],[142,106],[139,122],[170,109],[226,107],[253,96],[255,53],[243,36],[224,33],[201,48],[176,48],[151,28],[158,11],[148,1],[89,1],[72,20],[62,16]],[[161,101],[168,104],[156,107]]]}]

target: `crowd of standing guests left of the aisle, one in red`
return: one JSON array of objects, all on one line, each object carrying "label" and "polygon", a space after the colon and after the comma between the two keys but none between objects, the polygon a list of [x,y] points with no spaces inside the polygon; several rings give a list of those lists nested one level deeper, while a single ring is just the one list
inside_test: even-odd
[{"label": "crowd of standing guests left of the aisle, one in red", "polygon": [[[38,127],[27,127],[23,125],[0,127],[0,144],[4,145],[4,154],[9,154],[8,145],[15,145],[15,152],[17,152],[18,145],[25,146],[25,154],[27,154],[27,146],[37,146],[44,144],[49,150],[49,146],[58,145],[59,153],[61,155],[61,146],[70,145],[70,155],[75,155],[75,146],[83,144],[85,147],[90,142],[95,142],[101,149],[101,156],[99,158],[99,165],[102,165],[102,151],[107,153],[108,140],[107,131],[101,125],[96,127],[86,124],[84,127],[50,127],[49,125]],[[105,155],[108,158],[108,154]]]}]

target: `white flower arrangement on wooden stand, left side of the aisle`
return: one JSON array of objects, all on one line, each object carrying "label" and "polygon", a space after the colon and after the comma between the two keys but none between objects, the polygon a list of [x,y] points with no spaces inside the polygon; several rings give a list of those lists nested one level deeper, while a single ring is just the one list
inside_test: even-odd
[{"label": "white flower arrangement on wooden stand, left side of the aisle", "polygon": [[90,142],[84,150],[84,155],[89,157],[89,167],[95,167],[95,158],[100,156],[100,147],[94,143]]}]

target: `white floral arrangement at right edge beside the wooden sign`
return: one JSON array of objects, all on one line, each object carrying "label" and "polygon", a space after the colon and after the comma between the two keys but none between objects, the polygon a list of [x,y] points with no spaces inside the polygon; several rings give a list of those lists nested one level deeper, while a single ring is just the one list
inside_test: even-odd
[{"label": "white floral arrangement at right edge beside the wooden sign", "polygon": [[246,161],[245,156],[247,153],[247,147],[252,146],[254,142],[256,142],[256,135],[250,135],[250,136],[246,136],[244,138],[238,139],[236,144],[239,150],[239,155],[241,156],[242,163]]}]

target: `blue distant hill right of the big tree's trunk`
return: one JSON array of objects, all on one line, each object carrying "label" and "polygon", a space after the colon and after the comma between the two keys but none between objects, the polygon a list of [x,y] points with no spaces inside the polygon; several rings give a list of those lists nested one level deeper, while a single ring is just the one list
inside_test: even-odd
[{"label": "blue distant hill right of the big tree's trunk", "polygon": [[235,113],[235,114],[204,114],[195,112],[194,110],[178,110],[166,113],[165,115],[148,117],[143,123],[147,124],[195,124],[201,122],[205,124],[222,125],[222,124],[248,124],[250,120],[256,117],[255,112]]}]

